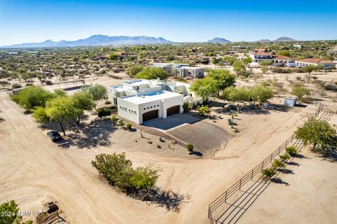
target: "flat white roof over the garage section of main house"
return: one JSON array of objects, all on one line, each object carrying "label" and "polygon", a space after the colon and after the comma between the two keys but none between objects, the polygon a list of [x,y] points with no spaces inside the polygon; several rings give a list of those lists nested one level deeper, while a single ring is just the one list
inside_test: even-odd
[{"label": "flat white roof over the garage section of main house", "polygon": [[161,99],[169,99],[173,97],[183,96],[182,94],[176,92],[168,92],[168,91],[158,91],[158,92],[151,92],[148,94],[141,94],[139,96],[130,96],[130,97],[121,97],[126,102],[131,102],[133,104],[145,104],[147,102],[153,102]]}]

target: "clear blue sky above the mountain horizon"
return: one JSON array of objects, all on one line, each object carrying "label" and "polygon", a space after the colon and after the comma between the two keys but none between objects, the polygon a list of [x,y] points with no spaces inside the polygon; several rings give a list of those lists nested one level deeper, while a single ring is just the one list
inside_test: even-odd
[{"label": "clear blue sky above the mountain horizon", "polygon": [[0,0],[0,45],[93,34],[170,41],[337,39],[337,1]]}]

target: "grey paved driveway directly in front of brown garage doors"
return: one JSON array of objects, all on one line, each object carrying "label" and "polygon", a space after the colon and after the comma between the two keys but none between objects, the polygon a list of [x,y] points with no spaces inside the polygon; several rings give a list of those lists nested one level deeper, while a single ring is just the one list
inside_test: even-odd
[{"label": "grey paved driveway directly in front of brown garage doors", "polygon": [[193,124],[198,122],[199,120],[200,120],[199,118],[194,118],[185,113],[176,113],[165,119],[155,118],[152,120],[147,120],[145,121],[145,123],[143,123],[143,125],[166,131],[172,129],[173,127],[178,127],[180,125]]}]

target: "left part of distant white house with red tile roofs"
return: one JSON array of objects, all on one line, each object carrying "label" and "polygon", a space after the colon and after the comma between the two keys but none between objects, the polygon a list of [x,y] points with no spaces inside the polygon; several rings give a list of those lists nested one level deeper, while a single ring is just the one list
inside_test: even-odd
[{"label": "left part of distant white house with red tile roofs", "polygon": [[249,57],[251,57],[252,61],[255,63],[270,60],[272,65],[274,66],[292,66],[295,62],[295,59],[291,57],[286,57],[282,55],[272,55],[272,52],[249,52]]}]

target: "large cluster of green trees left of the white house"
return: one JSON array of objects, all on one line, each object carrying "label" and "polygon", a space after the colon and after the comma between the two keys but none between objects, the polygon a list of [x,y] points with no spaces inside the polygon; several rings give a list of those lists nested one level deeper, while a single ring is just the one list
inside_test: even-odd
[{"label": "large cluster of green trees left of the white house", "polygon": [[41,87],[29,87],[13,95],[12,99],[32,111],[38,123],[55,121],[65,134],[65,124],[70,120],[79,124],[84,111],[95,109],[106,92],[106,88],[99,84],[83,87],[71,96],[67,96],[64,90],[49,92]]}]

